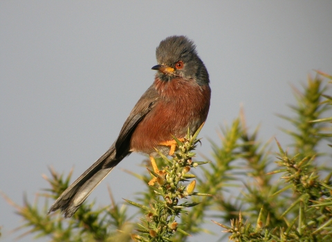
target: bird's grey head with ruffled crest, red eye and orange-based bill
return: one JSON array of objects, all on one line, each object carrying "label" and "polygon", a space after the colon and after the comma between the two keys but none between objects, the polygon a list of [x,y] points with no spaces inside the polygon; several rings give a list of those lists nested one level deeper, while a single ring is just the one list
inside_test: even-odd
[{"label": "bird's grey head with ruffled crest, red eye and orange-based bill", "polygon": [[195,80],[199,85],[209,84],[209,75],[196,52],[194,42],[185,36],[171,36],[160,42],[156,48],[157,77],[165,82],[174,77]]}]

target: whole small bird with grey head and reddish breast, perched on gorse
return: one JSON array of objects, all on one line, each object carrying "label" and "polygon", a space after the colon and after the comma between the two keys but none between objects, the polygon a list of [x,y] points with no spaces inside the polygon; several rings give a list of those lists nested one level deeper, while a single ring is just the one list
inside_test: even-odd
[{"label": "whole small bird with grey head and reddish breast, perched on gorse", "polygon": [[147,153],[156,171],[156,149],[172,155],[175,140],[194,133],[210,107],[209,75],[194,42],[171,36],[156,48],[154,83],[140,97],[109,150],[69,186],[50,207],[71,217],[93,189],[131,152]]}]

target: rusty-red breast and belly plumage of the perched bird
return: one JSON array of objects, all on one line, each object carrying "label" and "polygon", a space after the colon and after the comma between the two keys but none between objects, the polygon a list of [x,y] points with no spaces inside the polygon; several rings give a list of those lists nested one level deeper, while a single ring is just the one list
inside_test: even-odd
[{"label": "rusty-red breast and belly plumage of the perched bird", "polygon": [[188,127],[194,132],[206,120],[210,107],[210,86],[194,80],[154,81],[160,100],[137,125],[131,136],[131,151],[154,152],[160,142],[183,138]]}]

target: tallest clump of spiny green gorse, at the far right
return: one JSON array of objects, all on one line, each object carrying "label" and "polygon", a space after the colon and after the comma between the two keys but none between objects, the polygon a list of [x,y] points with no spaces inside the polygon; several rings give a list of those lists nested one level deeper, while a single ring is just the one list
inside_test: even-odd
[{"label": "tallest clump of spiny green gorse, at the far right", "polygon": [[[309,77],[303,93],[295,90],[297,105],[291,109],[296,116],[279,115],[295,126],[295,131],[284,129],[293,138],[293,154],[277,142],[279,168],[268,175],[279,180],[274,179],[272,183],[265,173],[266,162],[260,162],[259,167],[264,167],[261,169],[264,171],[255,178],[255,185],[246,185],[242,193],[242,204],[247,205],[243,212],[232,219],[230,226],[217,223],[230,233],[231,241],[332,241],[331,166],[319,167],[317,160],[322,156],[318,151],[320,141],[331,137],[331,125],[327,122],[332,118],[322,118],[327,111],[331,112],[332,104],[332,98],[325,91],[320,77]],[[252,140],[250,144],[257,143]],[[259,174],[259,167],[251,163],[247,160],[248,167]],[[327,176],[322,178],[323,174]],[[247,216],[245,223],[243,215]]]}]

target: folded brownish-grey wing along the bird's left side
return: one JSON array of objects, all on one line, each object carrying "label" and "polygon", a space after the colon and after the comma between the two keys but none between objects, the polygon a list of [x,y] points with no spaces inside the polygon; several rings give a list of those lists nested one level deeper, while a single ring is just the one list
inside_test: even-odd
[{"label": "folded brownish-grey wing along the bird's left side", "polygon": [[131,134],[135,130],[137,124],[151,111],[158,103],[160,95],[151,85],[149,89],[140,97],[140,100],[133,107],[126,122],[124,122],[118,139],[116,140],[116,157],[127,156],[129,152],[129,142]]}]

